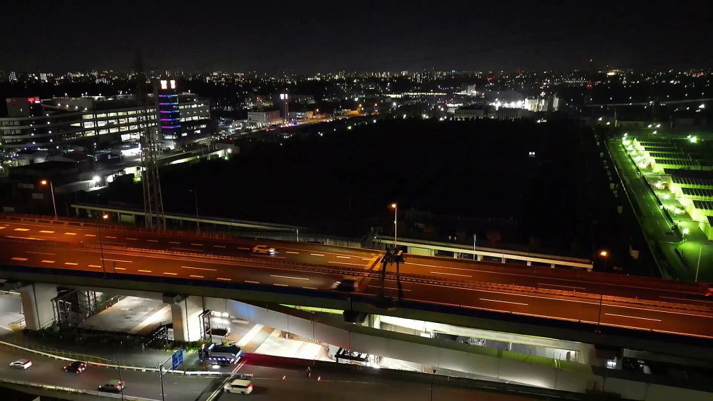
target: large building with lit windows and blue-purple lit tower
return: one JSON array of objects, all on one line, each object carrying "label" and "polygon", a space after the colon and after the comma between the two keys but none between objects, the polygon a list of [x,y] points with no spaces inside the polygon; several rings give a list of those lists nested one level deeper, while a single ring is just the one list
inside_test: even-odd
[{"label": "large building with lit windows and blue-purple lit tower", "polygon": [[156,95],[170,96],[154,96],[145,108],[139,108],[132,95],[7,99],[8,117],[0,118],[0,143],[5,151],[61,151],[71,145],[93,153],[96,148],[138,142],[143,129],[138,118],[160,130],[162,148],[198,141],[210,133],[208,101],[178,93],[175,83],[170,88],[170,81]]}]

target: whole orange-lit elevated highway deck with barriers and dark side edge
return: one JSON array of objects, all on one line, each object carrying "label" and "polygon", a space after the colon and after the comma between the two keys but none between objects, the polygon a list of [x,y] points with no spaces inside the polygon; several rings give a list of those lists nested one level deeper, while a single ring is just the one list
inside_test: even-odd
[{"label": "whole orange-lit elevated highway deck with barriers and dark side edge", "polygon": [[[279,253],[255,255],[258,244]],[[389,265],[382,292],[380,258],[376,250],[0,215],[0,278],[21,283],[430,314],[609,345],[713,339],[713,302],[701,283],[406,255],[398,277]],[[334,290],[345,277],[356,278],[355,293]]]}]

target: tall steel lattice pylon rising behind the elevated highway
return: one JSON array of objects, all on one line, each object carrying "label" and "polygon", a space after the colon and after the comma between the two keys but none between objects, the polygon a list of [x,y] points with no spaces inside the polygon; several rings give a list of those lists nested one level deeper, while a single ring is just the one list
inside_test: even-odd
[{"label": "tall steel lattice pylon rising behind the elevated highway", "polygon": [[161,180],[158,176],[156,156],[155,131],[148,123],[148,94],[146,92],[146,75],[143,71],[141,56],[136,57],[136,103],[138,106],[137,121],[140,128],[139,143],[141,146],[141,186],[143,186],[143,210],[146,216],[146,228],[165,228],[163,216],[163,198],[161,197]]}]

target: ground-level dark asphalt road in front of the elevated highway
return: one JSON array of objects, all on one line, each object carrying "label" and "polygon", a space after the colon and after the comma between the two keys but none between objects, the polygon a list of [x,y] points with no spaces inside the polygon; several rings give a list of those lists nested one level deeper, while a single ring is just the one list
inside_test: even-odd
[{"label": "ground-level dark asphalt road in front of the elevated highway", "polygon": [[[396,380],[329,369],[314,369],[309,377],[302,366],[279,367],[266,365],[260,355],[254,355],[237,365],[238,374],[250,373],[255,390],[250,400],[430,400],[428,383]],[[33,365],[26,370],[9,367],[17,359],[30,359]],[[307,361],[304,361],[307,362]],[[58,385],[81,390],[96,390],[106,380],[118,379],[116,369],[89,366],[83,373],[64,372],[69,362],[53,360],[30,352],[0,347],[0,377]],[[121,380],[126,382],[124,395],[160,400],[160,382],[155,372],[121,370]],[[194,401],[207,399],[213,390],[222,385],[224,378],[187,377],[168,374],[163,378],[165,400]],[[244,395],[217,392],[213,400],[244,400]],[[434,386],[433,400],[493,400],[527,401],[531,397],[500,394],[459,387]]]}]

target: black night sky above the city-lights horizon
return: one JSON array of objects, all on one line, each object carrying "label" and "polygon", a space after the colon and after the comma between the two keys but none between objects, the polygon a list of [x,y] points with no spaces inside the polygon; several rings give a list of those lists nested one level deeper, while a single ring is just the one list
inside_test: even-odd
[{"label": "black night sky above the city-lights horizon", "polygon": [[[0,69],[399,71],[713,65],[708,1],[10,1]],[[160,5],[159,5],[160,4]]]}]

